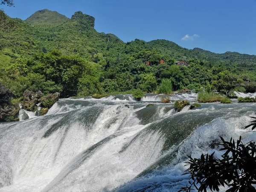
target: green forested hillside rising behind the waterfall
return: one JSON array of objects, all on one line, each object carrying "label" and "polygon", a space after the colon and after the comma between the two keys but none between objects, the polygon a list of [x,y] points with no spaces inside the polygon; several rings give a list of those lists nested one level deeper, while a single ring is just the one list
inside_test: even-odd
[{"label": "green forested hillside rising behind the waterfall", "polygon": [[[69,97],[155,92],[162,79],[170,79],[173,90],[197,89],[224,70],[247,82],[256,80],[256,55],[185,49],[166,40],[124,43],[97,32],[94,20],[82,12],[70,19],[47,9],[25,21],[13,19],[17,27],[0,32],[0,82],[17,96],[29,89]],[[159,64],[162,58],[166,62]],[[190,65],[175,65],[180,60]]]}]

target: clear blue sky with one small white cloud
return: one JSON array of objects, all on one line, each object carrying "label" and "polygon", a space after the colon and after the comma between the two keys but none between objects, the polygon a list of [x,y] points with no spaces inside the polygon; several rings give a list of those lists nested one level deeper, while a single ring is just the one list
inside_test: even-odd
[{"label": "clear blue sky with one small white cloud", "polygon": [[41,9],[95,17],[98,32],[122,41],[166,39],[182,47],[256,55],[256,0],[14,0],[2,6],[25,20]]}]

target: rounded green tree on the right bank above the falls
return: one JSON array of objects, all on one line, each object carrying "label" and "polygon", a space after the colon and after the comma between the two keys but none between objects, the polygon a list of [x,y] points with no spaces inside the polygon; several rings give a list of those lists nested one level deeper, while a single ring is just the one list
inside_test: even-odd
[{"label": "rounded green tree on the right bank above the falls", "polygon": [[212,85],[220,92],[221,90],[225,91],[225,94],[229,96],[230,91],[232,91],[236,86],[242,82],[241,79],[238,79],[237,76],[225,70],[218,75],[213,76]]}]

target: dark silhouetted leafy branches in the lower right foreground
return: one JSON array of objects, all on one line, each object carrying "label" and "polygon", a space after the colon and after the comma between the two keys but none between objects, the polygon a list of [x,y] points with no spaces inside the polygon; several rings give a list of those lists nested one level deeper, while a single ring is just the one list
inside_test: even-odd
[{"label": "dark silhouetted leafy branches in the lower right foreground", "polygon": [[[252,124],[253,125],[253,124]],[[251,125],[249,125],[251,126]],[[192,158],[186,161],[189,168],[185,174],[189,174],[189,186],[182,187],[179,192],[190,192],[193,187],[198,192],[210,190],[220,191],[220,186],[228,186],[226,192],[255,192],[252,184],[256,180],[256,143],[243,144],[241,136],[237,142],[230,139],[225,141],[221,137],[221,159],[216,158],[214,153],[202,154],[200,158]],[[198,186],[199,185],[199,186]]]}]

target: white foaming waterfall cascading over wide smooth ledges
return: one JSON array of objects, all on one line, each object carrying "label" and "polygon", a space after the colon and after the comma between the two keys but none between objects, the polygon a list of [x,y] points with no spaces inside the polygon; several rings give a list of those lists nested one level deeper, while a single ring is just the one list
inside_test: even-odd
[{"label": "white foaming waterfall cascading over wide smooth ledges", "polygon": [[[175,113],[195,93],[61,99],[47,115],[0,124],[0,192],[177,192],[186,156],[221,152],[219,137],[256,140],[242,127],[256,104],[202,104]],[[147,107],[149,103],[154,106]]]}]

